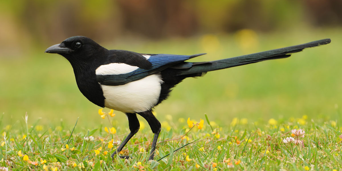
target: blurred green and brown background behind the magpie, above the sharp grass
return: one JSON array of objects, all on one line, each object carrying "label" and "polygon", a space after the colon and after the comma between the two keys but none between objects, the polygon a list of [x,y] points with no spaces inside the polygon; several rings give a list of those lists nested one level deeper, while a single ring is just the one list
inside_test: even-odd
[{"label": "blurred green and brown background behind the magpie, above the sharp grass", "polygon": [[[94,127],[100,108],[78,90],[62,56],[44,50],[87,36],[107,49],[208,53],[210,61],[331,38],[292,57],[188,78],[156,107],[157,118],[204,118],[219,124],[307,115],[340,119],[341,0],[18,0],[0,2],[0,112],[14,123],[63,120]],[[104,109],[109,111],[109,109]],[[116,112],[114,125],[127,125]],[[170,120],[170,118],[169,118]]]}]

